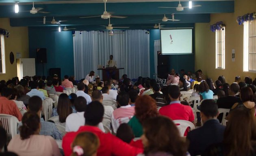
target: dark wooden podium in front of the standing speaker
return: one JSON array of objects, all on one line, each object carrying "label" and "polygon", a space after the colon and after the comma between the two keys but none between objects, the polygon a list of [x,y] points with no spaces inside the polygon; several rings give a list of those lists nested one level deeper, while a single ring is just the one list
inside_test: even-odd
[{"label": "dark wooden podium in front of the standing speaker", "polygon": [[102,70],[102,80],[106,81],[110,78],[114,80],[119,80],[119,69],[124,68],[114,68],[114,67],[107,67],[107,68],[100,68],[98,70]]}]

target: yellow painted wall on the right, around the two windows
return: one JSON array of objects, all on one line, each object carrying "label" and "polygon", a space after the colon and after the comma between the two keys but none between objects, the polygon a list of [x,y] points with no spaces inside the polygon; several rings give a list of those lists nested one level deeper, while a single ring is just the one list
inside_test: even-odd
[{"label": "yellow painted wall on the right, around the two windows", "polygon": [[[225,76],[228,83],[234,82],[237,75],[254,80],[256,73],[243,72],[243,25],[239,26],[236,18],[255,11],[256,0],[235,0],[234,13],[211,14],[210,23],[195,24],[195,70],[202,69],[213,81],[220,75]],[[210,25],[218,21],[226,24],[226,69],[215,69],[215,32],[210,31]],[[235,50],[234,62],[232,49]]]}]

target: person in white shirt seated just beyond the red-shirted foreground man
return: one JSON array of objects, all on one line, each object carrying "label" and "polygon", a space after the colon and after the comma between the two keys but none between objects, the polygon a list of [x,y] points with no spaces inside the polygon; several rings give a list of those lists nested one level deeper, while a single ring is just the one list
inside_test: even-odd
[{"label": "person in white shirt seated just beyond the red-shirted foreground man", "polygon": [[[87,101],[85,100],[84,97],[79,96],[76,98],[74,101],[74,105],[76,108],[77,113],[72,113],[67,116],[66,119],[66,132],[72,132],[72,131],[77,131],[80,126],[85,125],[85,110],[87,106]],[[105,132],[103,124],[100,123],[98,125],[98,128]]]}]

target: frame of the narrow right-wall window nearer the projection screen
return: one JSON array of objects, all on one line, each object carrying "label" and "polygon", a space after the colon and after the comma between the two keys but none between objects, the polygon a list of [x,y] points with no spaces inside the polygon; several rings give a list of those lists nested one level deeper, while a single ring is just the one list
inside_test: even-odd
[{"label": "frame of the narrow right-wall window nearer the projection screen", "polygon": [[[219,35],[221,35],[220,41]],[[219,43],[221,43],[221,52],[219,52]],[[219,63],[220,55],[221,65]],[[215,31],[215,69],[225,69],[225,27]]]}]

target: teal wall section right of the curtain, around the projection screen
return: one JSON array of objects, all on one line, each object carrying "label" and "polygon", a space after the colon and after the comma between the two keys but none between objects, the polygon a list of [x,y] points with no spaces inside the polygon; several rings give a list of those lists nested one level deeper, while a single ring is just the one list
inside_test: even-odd
[{"label": "teal wall section right of the curtain, around the projection screen", "polygon": [[[192,30],[192,45],[193,45],[193,54],[182,54],[182,55],[164,55],[168,57],[169,60],[169,71],[175,69],[176,72],[180,73],[180,69],[184,69],[187,73],[188,71],[194,72],[195,70],[195,30],[194,24],[174,24],[174,28],[184,28],[184,27],[193,27]],[[160,30],[152,29],[150,30],[150,78],[153,78],[153,73],[155,71],[154,67],[154,40],[160,39]]]}]

